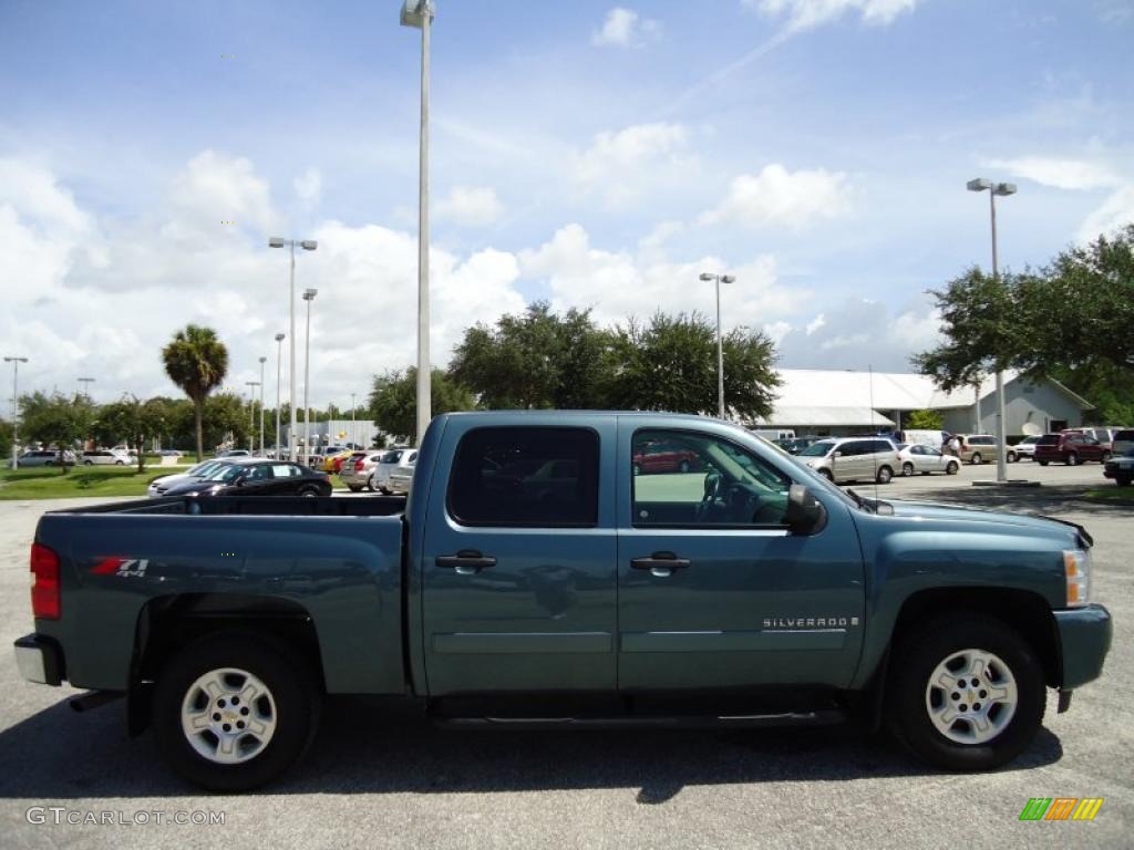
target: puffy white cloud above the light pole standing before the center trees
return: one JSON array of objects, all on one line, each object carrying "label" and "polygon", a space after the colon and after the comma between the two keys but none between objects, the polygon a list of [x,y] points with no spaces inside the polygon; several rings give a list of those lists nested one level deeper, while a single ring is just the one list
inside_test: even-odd
[{"label": "puffy white cloud above the light pole standing before the center trees", "polygon": [[822,219],[844,215],[850,206],[846,176],[824,169],[788,171],[779,163],[765,165],[759,175],[741,175],[728,195],[714,209],[701,214],[699,223],[736,223],[759,228],[803,228]]}]

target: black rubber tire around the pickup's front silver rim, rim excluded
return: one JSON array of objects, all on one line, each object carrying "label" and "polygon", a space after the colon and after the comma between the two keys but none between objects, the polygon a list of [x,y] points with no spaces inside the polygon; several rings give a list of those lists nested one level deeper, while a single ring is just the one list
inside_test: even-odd
[{"label": "black rubber tire around the pickup's front silver rim, rim excluded", "polygon": [[[933,672],[950,656],[962,656],[966,649],[997,656],[1016,683],[1015,713],[1001,730],[980,743],[947,738],[930,716],[929,683]],[[988,771],[1010,762],[1027,748],[1043,721],[1047,694],[1039,660],[1019,632],[990,617],[954,612],[932,618],[902,638],[889,670],[887,726],[914,756],[949,771]],[[988,670],[998,668],[993,663]],[[984,698],[981,694],[987,691],[972,689],[972,698]],[[941,697],[948,699],[953,694],[942,692]],[[958,705],[965,704],[965,699],[962,696]],[[988,712],[988,706],[984,711]],[[999,711],[1005,709],[1001,706]],[[955,729],[957,723],[962,732],[955,733],[960,734],[966,728],[970,732],[975,730],[965,715],[957,714]]]}]

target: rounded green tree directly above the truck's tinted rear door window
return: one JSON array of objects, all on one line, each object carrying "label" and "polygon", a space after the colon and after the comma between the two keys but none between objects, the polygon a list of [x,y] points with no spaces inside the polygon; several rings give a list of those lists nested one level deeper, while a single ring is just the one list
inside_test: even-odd
[{"label": "rounded green tree directly above the truck's tinted rear door window", "polygon": [[601,406],[600,379],[610,334],[599,330],[590,311],[562,316],[545,301],[521,315],[503,315],[494,328],[465,331],[454,351],[449,375],[492,409]]}]

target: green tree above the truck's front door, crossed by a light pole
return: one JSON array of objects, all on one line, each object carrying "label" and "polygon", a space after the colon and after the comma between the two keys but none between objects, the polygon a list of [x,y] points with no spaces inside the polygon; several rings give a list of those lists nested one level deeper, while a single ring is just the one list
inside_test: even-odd
[{"label": "green tree above the truck's front door, crossed by a light pole", "polygon": [[[742,419],[772,410],[776,348],[761,331],[736,329],[723,340],[725,402]],[[709,414],[718,410],[717,330],[700,313],[655,313],[616,330],[607,356],[604,396],[610,407]]]}]

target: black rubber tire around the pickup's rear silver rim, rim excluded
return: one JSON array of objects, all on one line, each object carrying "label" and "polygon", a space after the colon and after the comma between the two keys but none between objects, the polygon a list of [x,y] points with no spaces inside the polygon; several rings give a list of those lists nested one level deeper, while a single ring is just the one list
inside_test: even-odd
[{"label": "black rubber tire around the pickup's rear silver rim, rim excluded", "polygon": [[[184,703],[194,683],[223,669],[257,678],[273,703],[276,726],[270,740],[237,764],[206,758],[181,728]],[[210,791],[246,791],[271,782],[303,756],[319,725],[319,689],[310,668],[285,644],[268,635],[223,631],[189,644],[161,670],[153,726],[162,755],[184,779]]]}]

